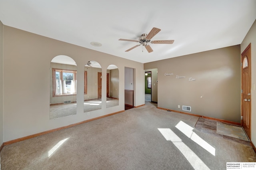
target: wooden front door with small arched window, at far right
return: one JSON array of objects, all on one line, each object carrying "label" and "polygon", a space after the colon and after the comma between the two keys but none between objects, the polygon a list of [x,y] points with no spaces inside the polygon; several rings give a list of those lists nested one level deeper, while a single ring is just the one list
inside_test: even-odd
[{"label": "wooden front door with small arched window, at far right", "polygon": [[251,44],[242,53],[241,125],[251,139]]}]

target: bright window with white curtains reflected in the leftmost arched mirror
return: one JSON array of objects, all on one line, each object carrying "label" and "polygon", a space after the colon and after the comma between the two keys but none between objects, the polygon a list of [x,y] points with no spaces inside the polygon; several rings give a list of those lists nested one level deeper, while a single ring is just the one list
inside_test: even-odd
[{"label": "bright window with white curtains reflected in the leftmost arched mirror", "polygon": [[53,96],[76,95],[76,71],[52,69]]}]

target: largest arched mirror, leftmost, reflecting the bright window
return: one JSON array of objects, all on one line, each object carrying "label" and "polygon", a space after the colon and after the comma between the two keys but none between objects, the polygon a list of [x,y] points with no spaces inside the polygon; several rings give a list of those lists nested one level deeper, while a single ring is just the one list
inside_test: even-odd
[{"label": "largest arched mirror, leftmost, reflecting the bright window", "polygon": [[76,62],[66,55],[50,63],[50,119],[76,114]]}]

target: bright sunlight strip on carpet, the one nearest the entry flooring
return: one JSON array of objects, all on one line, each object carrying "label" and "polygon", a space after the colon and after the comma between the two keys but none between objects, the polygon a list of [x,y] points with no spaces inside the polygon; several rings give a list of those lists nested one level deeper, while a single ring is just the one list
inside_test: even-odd
[{"label": "bright sunlight strip on carpet, the one nearest the entry flooring", "polygon": [[196,142],[199,146],[202,146],[205,150],[210,152],[213,156],[215,156],[215,148],[208,144],[204,139],[200,138],[193,130],[194,128],[190,127],[188,124],[184,123],[183,121],[180,121],[176,126],[178,130],[180,130],[182,133],[184,133],[188,138]]}]

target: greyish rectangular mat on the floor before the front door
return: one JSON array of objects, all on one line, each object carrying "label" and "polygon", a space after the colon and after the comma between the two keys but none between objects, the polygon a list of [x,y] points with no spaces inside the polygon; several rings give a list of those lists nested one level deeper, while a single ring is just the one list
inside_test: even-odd
[{"label": "greyish rectangular mat on the floor before the front door", "polygon": [[225,136],[230,136],[233,138],[242,139],[249,142],[247,135],[242,127],[237,127],[233,125],[227,125],[224,123],[217,123],[217,134],[222,134]]}]

